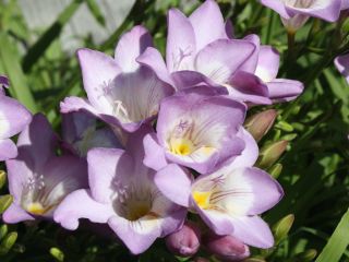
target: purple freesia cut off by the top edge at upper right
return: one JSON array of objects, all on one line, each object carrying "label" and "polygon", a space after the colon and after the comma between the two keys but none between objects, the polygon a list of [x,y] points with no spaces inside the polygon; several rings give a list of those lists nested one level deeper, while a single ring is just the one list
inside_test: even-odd
[{"label": "purple freesia cut off by the top edge at upper right", "polygon": [[309,17],[336,22],[342,0],[261,0],[261,3],[278,12],[290,32],[302,27]]}]

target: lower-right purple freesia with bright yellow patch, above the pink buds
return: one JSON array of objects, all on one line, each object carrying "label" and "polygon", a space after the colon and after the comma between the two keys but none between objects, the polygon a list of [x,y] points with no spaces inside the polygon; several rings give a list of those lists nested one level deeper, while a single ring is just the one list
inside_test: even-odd
[{"label": "lower-right purple freesia with bright yellow patch, above the pink buds", "polygon": [[231,235],[245,245],[270,248],[268,225],[258,216],[282,196],[282,189],[265,171],[233,165],[193,180],[170,164],[155,175],[155,183],[171,201],[197,213],[217,235]]}]

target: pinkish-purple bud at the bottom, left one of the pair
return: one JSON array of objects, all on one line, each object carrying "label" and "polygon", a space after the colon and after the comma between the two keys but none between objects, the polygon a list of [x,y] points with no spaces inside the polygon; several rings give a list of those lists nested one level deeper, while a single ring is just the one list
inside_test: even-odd
[{"label": "pinkish-purple bud at the bottom, left one of the pair", "polygon": [[185,222],[180,230],[166,238],[167,248],[180,257],[194,255],[200,248],[200,228],[192,222]]}]

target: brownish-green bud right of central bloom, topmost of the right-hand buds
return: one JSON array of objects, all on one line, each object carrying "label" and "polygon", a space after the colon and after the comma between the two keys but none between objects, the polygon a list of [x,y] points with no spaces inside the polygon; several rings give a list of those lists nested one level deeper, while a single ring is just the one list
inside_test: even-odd
[{"label": "brownish-green bud right of central bloom, topmost of the right-hand buds", "polygon": [[244,127],[256,141],[260,141],[273,127],[276,116],[274,109],[255,114],[245,121]]}]

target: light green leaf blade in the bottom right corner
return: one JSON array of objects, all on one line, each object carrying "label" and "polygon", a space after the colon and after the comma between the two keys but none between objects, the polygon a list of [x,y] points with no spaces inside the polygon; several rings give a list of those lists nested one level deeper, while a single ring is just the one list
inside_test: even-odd
[{"label": "light green leaf blade in the bottom right corner", "polygon": [[349,210],[341,217],[337,228],[328,239],[315,262],[338,262],[349,245]]}]

